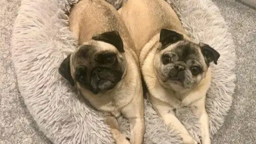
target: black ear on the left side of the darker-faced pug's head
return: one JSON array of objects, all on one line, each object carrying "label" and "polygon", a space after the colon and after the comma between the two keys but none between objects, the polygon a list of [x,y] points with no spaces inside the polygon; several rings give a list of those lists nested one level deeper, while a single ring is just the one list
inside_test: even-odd
[{"label": "black ear on the left side of the darker-faced pug's head", "polygon": [[75,86],[75,83],[73,81],[73,78],[71,77],[71,71],[70,71],[70,55],[66,59],[62,61],[59,67],[59,73],[66,78],[71,86]]}]

